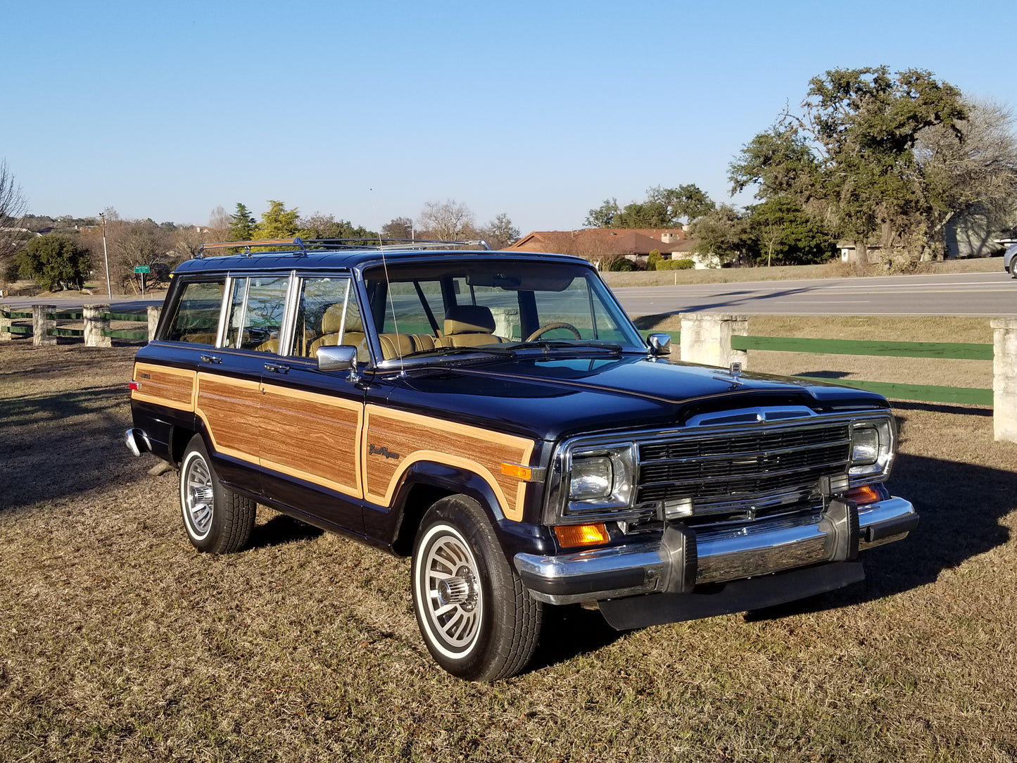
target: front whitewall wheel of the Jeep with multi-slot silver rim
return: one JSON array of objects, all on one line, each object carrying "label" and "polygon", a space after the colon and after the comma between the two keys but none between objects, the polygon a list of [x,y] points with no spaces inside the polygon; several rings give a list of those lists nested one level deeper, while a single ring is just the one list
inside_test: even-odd
[{"label": "front whitewall wheel of the Jeep with multi-slot silver rim", "polygon": [[450,495],[428,510],[414,543],[412,582],[424,643],[453,676],[495,681],[530,661],[542,605],[523,587],[477,502]]}]

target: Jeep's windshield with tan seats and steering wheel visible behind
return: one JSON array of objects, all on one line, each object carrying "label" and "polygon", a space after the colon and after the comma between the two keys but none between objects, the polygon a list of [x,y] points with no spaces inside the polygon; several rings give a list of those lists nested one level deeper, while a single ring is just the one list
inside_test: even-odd
[{"label": "Jeep's windshield with tan seats and steering wheel visible behind", "polygon": [[448,257],[390,265],[387,273],[374,267],[364,282],[385,359],[526,342],[645,349],[613,295],[582,266]]}]

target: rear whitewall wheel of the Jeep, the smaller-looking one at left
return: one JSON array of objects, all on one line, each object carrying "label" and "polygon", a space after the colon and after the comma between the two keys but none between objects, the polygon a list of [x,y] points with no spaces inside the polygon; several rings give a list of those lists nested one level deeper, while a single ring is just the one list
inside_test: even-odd
[{"label": "rear whitewall wheel of the Jeep, the smaller-looking one at left", "polygon": [[253,501],[220,483],[204,442],[195,434],[180,463],[180,510],[194,547],[210,553],[243,548],[254,528],[256,509]]}]

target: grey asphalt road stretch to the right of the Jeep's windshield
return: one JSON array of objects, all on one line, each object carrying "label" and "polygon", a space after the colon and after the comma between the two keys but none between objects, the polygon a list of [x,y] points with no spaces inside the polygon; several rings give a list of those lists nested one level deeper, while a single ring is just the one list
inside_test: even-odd
[{"label": "grey asphalt road stretch to the right of the Jeep's windshield", "polygon": [[778,315],[1017,316],[1006,273],[760,281],[614,289],[630,315],[671,312]]}]

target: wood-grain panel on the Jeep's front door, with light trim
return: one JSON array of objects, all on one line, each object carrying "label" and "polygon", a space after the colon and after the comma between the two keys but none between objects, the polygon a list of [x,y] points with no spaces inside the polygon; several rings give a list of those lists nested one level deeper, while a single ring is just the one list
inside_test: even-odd
[{"label": "wood-grain panel on the Jeep's front door, with light trim", "polygon": [[356,497],[363,405],[327,395],[264,386],[261,465]]}]

